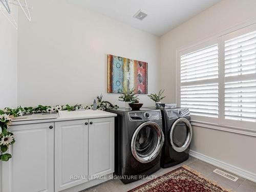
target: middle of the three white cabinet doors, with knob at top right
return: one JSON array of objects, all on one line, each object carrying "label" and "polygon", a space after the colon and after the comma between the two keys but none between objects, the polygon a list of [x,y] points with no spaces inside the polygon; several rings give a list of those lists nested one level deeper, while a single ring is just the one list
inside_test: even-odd
[{"label": "middle of the three white cabinet doors, with knob at top right", "polygon": [[88,181],[88,120],[55,122],[55,191]]}]

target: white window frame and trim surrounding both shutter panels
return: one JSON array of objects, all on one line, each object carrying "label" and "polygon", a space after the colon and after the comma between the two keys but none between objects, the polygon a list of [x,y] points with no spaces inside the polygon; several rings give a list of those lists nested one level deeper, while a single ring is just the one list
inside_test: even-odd
[{"label": "white window frame and trim surrounding both shutter panels", "polygon": [[[191,115],[194,125],[209,127],[212,129],[228,131],[233,133],[241,133],[245,135],[256,136],[255,122],[239,121],[225,119],[225,41],[233,37],[240,36],[256,30],[256,18],[249,20],[241,25],[229,28],[221,33],[205,38],[199,42],[195,42],[189,46],[184,46],[176,50],[176,103],[180,106],[180,89],[181,89],[181,55],[191,53],[193,51],[218,44],[218,83],[219,83],[219,117],[205,117]],[[236,78],[236,77],[235,77]],[[230,79],[230,78],[229,78]],[[205,81],[206,82],[206,81]],[[240,131],[239,131],[240,130]],[[242,130],[242,131],[241,131]]]}]

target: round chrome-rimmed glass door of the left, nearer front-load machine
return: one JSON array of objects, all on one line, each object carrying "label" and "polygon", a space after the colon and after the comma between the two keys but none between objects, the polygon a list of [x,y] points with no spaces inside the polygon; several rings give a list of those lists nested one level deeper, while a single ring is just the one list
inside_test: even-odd
[{"label": "round chrome-rimmed glass door of the left, nearer front-load machine", "polygon": [[164,135],[161,127],[152,121],[142,123],[135,130],[131,150],[134,158],[141,163],[153,161],[161,151]]}]

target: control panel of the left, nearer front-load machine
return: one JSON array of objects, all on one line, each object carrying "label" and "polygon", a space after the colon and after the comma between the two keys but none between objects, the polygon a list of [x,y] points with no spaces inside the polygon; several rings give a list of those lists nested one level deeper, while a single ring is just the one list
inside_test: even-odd
[{"label": "control panel of the left, nearer front-load machine", "polygon": [[161,112],[158,110],[129,112],[128,115],[130,121],[162,119]]}]

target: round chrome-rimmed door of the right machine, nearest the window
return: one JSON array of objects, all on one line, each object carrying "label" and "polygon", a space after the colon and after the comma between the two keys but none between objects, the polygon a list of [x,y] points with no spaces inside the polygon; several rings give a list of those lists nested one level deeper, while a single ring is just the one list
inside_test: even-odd
[{"label": "round chrome-rimmed door of the right machine, nearest the window", "polygon": [[170,144],[176,152],[184,152],[192,138],[192,127],[186,118],[177,119],[170,128]]}]

